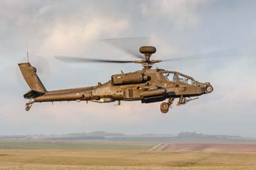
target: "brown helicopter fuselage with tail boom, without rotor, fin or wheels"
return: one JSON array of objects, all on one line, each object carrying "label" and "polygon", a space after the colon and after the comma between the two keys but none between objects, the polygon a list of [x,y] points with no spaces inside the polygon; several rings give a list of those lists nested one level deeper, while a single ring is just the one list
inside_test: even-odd
[{"label": "brown helicopter fuselage with tail boom, without rotor, fin or wheels", "polygon": [[162,69],[138,70],[132,73],[112,75],[111,80],[85,88],[45,91],[34,98],[35,102],[89,100],[115,102],[116,100],[141,100],[143,103],[159,102],[166,98],[196,97],[205,93],[209,82],[195,81],[193,77]]}]

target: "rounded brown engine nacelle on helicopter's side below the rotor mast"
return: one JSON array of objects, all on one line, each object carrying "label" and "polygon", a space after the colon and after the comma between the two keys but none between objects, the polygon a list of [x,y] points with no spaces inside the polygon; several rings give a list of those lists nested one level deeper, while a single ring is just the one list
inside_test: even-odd
[{"label": "rounded brown engine nacelle on helicopter's side below the rotor mast", "polygon": [[111,82],[114,85],[133,84],[148,81],[148,78],[142,73],[120,73],[112,75]]}]

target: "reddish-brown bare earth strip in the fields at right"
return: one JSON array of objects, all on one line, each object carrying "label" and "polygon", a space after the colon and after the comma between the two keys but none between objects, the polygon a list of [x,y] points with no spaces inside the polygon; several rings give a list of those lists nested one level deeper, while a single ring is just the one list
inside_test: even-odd
[{"label": "reddish-brown bare earth strip in the fields at right", "polygon": [[256,152],[256,144],[160,143],[148,151],[244,151]]}]

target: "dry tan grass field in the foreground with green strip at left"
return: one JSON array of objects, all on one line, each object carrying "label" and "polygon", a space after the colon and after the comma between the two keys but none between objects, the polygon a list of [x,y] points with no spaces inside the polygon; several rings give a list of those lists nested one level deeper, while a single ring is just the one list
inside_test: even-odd
[{"label": "dry tan grass field in the foreground with green strip at left", "polygon": [[0,169],[256,169],[256,153],[146,151],[150,143],[13,143],[0,144]]}]

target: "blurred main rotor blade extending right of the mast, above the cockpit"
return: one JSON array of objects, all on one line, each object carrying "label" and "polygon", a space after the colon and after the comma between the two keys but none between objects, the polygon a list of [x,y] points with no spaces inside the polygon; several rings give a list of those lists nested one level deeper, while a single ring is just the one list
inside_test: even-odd
[{"label": "blurred main rotor blade extending right of the mast, above the cockpit", "polygon": [[230,50],[219,50],[214,52],[199,53],[191,56],[183,56],[179,58],[163,59],[162,61],[187,61],[195,59],[220,59],[220,58],[235,58],[241,55],[241,50],[230,49]]}]

